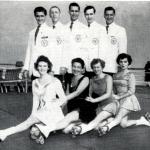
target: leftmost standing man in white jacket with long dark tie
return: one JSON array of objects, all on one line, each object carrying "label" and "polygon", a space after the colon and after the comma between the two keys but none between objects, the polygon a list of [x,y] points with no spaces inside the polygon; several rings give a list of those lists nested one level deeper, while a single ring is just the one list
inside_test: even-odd
[{"label": "leftmost standing man in white jacket with long dark tie", "polygon": [[24,67],[21,71],[20,77],[24,74],[31,77],[31,80],[39,77],[39,73],[34,69],[34,63],[38,56],[50,54],[49,37],[51,34],[50,27],[45,23],[47,11],[44,7],[36,7],[34,9],[34,17],[37,21],[37,27],[29,33],[28,46],[26,50],[26,57]]}]

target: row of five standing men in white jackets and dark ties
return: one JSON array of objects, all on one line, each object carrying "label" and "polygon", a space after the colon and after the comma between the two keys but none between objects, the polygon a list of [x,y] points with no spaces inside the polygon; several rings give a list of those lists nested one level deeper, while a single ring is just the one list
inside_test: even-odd
[{"label": "row of five standing men in white jackets and dark ties", "polygon": [[44,7],[34,9],[37,27],[29,33],[21,75],[29,73],[31,79],[39,77],[34,63],[40,55],[47,56],[52,61],[52,71],[56,75],[71,72],[70,62],[79,56],[85,61],[86,71],[91,71],[90,62],[93,58],[101,58],[106,62],[104,72],[117,72],[118,54],[127,53],[127,35],[125,28],[114,22],[115,9],[104,9],[106,27],[96,22],[94,6],[84,8],[87,24],[79,21],[80,12],[79,4],[70,3],[70,21],[64,25],[60,22],[60,8],[52,6],[49,10],[52,25],[49,26],[46,24],[47,10]]}]

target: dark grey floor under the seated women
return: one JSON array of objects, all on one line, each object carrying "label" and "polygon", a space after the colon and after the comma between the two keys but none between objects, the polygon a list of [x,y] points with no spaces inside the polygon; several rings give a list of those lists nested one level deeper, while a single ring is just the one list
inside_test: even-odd
[{"label": "dark grey floor under the seated women", "polygon": [[[136,96],[142,107],[131,118],[150,112],[150,88],[137,87]],[[0,94],[0,129],[24,121],[31,112],[32,94],[14,92]],[[150,150],[150,127],[115,127],[109,134],[98,137],[95,131],[77,138],[57,132],[51,134],[44,145],[29,138],[29,130],[8,137],[0,143],[0,150]]]}]

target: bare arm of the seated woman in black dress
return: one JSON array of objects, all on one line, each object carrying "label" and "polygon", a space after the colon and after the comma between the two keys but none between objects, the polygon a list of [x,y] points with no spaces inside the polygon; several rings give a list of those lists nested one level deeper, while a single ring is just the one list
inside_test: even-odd
[{"label": "bare arm of the seated woman in black dress", "polygon": [[69,95],[67,95],[67,100],[71,100],[75,97],[77,97],[78,95],[80,95],[89,85],[89,78],[85,77],[81,83],[79,84],[78,88],[76,89],[76,91],[70,93]]}]

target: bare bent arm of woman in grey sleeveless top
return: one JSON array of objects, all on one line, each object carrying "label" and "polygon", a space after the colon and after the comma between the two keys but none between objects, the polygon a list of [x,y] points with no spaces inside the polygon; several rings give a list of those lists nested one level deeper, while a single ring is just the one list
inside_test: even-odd
[{"label": "bare bent arm of woman in grey sleeveless top", "polygon": [[106,93],[104,94],[104,95],[102,95],[102,96],[100,96],[100,97],[98,97],[98,98],[91,98],[91,97],[88,97],[87,98],[87,101],[90,101],[90,102],[92,102],[92,103],[96,103],[96,102],[101,102],[101,101],[103,101],[103,100],[105,100],[105,99],[108,99],[110,96],[111,96],[111,94],[112,94],[112,77],[111,76],[107,76],[106,77],[106,86],[107,86],[107,89],[106,89]]}]

